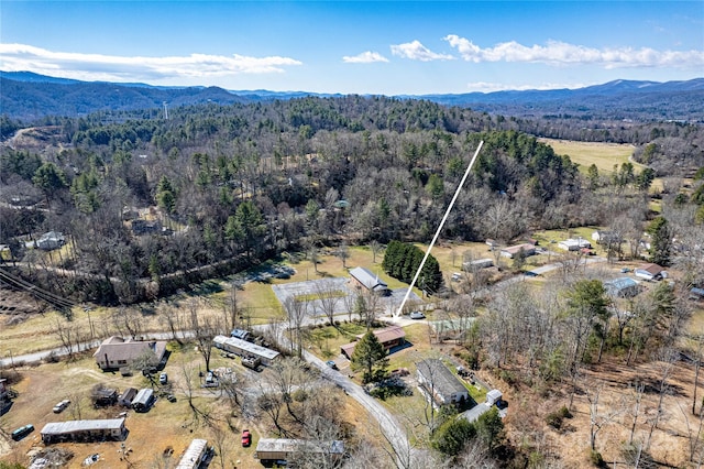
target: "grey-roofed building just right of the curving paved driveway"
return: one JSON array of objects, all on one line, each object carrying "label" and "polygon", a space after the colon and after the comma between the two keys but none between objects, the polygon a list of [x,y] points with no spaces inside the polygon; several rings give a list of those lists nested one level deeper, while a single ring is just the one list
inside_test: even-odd
[{"label": "grey-roofed building just right of the curving paved driveway", "polygon": [[436,405],[459,404],[470,399],[470,392],[452,371],[438,359],[416,363],[418,384]]}]

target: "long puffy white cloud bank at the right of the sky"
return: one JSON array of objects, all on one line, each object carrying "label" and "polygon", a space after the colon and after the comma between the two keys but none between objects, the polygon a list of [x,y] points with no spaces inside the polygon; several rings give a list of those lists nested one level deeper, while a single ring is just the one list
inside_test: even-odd
[{"label": "long puffy white cloud bank at the right of the sky", "polygon": [[444,37],[469,62],[527,62],[549,65],[595,64],[605,68],[704,66],[704,51],[656,51],[649,47],[593,48],[549,41],[544,46],[526,46],[515,41],[482,48],[472,41],[450,34]]}]

